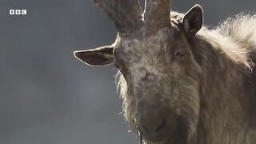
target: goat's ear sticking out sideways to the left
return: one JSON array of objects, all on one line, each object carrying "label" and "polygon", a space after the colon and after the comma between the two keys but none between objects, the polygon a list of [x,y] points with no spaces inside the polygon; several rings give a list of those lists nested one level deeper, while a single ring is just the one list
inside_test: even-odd
[{"label": "goat's ear sticking out sideways to the left", "polygon": [[114,62],[114,46],[102,46],[93,50],[74,51],[74,57],[90,66],[106,66]]}]

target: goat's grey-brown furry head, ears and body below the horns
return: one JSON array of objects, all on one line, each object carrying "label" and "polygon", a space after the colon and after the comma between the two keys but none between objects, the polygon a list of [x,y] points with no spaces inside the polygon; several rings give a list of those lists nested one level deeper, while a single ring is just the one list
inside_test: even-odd
[{"label": "goat's grey-brown furry head, ears and body below the horns", "polygon": [[[126,13],[125,1],[111,1],[121,5],[116,11],[109,11],[110,1],[96,2],[110,18]],[[137,1],[130,2],[131,15],[141,12]],[[166,5],[154,2],[170,0],[148,2],[158,7]],[[152,21],[164,13],[161,7],[150,10],[146,18],[157,14]],[[172,11],[170,23],[162,18],[150,20],[149,26],[140,18],[128,19],[126,26],[114,17],[122,33],[113,45],[74,53],[94,66],[114,62],[124,115],[138,137],[154,144],[254,144],[256,16],[239,14],[213,30],[202,26],[198,5],[186,14]],[[143,135],[143,124],[159,126],[158,114],[166,133],[149,140],[152,136]]]}]

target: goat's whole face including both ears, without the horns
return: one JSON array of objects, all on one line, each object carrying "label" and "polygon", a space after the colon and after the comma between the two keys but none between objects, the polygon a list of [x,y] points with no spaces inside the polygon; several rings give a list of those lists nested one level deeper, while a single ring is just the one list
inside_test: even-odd
[{"label": "goat's whole face including both ears, without the horns", "polygon": [[201,69],[190,40],[202,27],[202,9],[154,34],[119,37],[112,46],[75,52],[94,66],[110,63],[120,71],[123,109],[130,126],[149,142],[186,142],[198,122]]}]

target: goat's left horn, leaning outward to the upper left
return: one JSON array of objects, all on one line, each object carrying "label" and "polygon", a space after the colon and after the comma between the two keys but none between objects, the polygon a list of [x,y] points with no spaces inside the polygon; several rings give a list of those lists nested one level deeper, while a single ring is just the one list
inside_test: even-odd
[{"label": "goat's left horn, leaning outward to the upper left", "polygon": [[142,23],[142,7],[138,0],[94,0],[114,21],[121,36],[129,36]]}]

